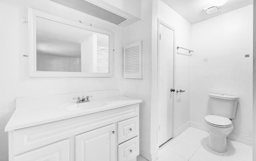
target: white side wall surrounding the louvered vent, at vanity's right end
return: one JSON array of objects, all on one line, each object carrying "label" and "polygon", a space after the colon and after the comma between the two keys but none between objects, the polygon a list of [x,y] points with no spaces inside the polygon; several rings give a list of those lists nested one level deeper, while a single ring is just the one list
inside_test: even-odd
[{"label": "white side wall surrounding the louvered vent, at vanity's right end", "polygon": [[143,41],[142,80],[124,79],[124,95],[142,99],[140,103],[140,154],[150,160],[151,26],[152,0],[142,0],[142,20],[124,28],[124,45]]}]

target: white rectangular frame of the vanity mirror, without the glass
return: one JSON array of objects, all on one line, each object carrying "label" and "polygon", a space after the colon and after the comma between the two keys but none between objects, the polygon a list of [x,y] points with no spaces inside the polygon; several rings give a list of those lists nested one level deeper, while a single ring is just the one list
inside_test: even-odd
[{"label": "white rectangular frame of the vanity mirror, without the glass", "polygon": [[[86,72],[47,72],[36,71],[36,17],[46,18],[84,30],[98,32],[109,36],[109,72],[86,73]],[[113,76],[113,33],[74,22],[59,16],[48,14],[39,10],[28,8],[28,77],[112,77]]]}]

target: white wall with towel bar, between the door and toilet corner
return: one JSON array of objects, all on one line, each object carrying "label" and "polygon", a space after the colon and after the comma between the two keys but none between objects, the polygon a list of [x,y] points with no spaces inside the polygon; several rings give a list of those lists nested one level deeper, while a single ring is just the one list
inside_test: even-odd
[{"label": "white wall with towel bar, between the door and toilet corner", "polygon": [[[175,46],[190,49],[191,24],[167,6],[162,0],[158,0],[158,18],[168,26],[174,28]],[[190,121],[190,56],[186,50],[175,52],[175,87],[176,90],[186,90],[174,97],[174,130],[182,127]],[[171,87],[170,87],[171,88]]]}]

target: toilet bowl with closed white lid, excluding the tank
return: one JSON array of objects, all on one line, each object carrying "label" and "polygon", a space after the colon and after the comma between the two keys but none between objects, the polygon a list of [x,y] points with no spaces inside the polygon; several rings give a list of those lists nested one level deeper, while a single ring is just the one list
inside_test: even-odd
[{"label": "toilet bowl with closed white lid, excluding the tank", "polygon": [[204,125],[209,130],[208,147],[220,153],[226,152],[228,150],[227,136],[234,128],[232,121],[218,115],[207,115]]}]

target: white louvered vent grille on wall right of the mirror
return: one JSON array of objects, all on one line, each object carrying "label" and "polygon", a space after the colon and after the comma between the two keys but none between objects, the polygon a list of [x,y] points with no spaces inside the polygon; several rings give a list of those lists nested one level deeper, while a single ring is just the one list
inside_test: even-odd
[{"label": "white louvered vent grille on wall right of the mirror", "polygon": [[124,78],[142,79],[142,41],[124,47]]}]

